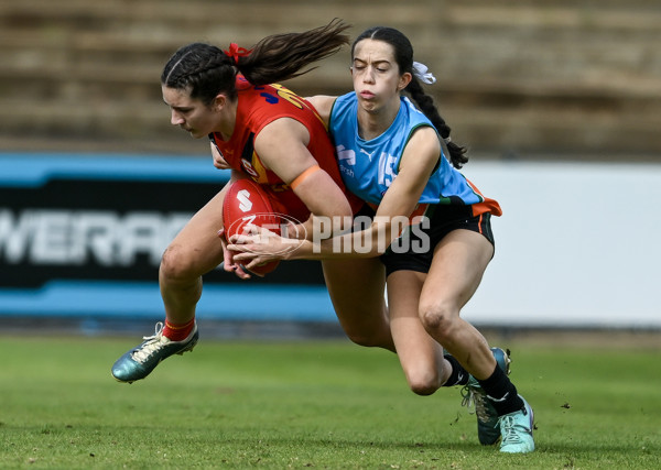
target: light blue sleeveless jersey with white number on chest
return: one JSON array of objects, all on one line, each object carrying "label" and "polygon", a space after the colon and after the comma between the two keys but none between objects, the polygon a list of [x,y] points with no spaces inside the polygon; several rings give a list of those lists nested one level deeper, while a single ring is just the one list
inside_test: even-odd
[{"label": "light blue sleeveless jersey with white number on chest", "polygon": [[[329,130],[335,143],[339,171],[347,188],[362,200],[379,205],[399,172],[404,146],[415,129],[431,121],[405,97],[397,118],[386,132],[366,141],[358,135],[358,100],[355,92],[335,100]],[[440,163],[419,203],[473,205],[485,198],[441,154]]]}]

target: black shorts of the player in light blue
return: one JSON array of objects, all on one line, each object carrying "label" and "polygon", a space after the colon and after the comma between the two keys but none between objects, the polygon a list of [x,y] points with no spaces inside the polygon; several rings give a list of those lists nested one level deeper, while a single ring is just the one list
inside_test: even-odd
[{"label": "black shorts of the player in light blue", "polygon": [[380,256],[387,275],[402,270],[427,273],[434,248],[453,230],[481,233],[495,245],[490,212],[473,216],[470,206],[430,205],[425,217],[421,223],[409,226]]}]

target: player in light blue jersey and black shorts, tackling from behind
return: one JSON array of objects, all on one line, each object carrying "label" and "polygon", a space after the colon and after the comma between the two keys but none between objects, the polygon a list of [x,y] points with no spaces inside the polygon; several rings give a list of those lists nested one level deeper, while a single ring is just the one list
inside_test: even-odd
[{"label": "player in light blue jersey and black shorts, tackling from behind", "polygon": [[264,239],[258,228],[229,248],[242,251],[235,259],[252,260],[248,267],[275,259],[323,260],[351,340],[395,351],[418,394],[465,385],[481,444],[500,440],[503,452],[532,451],[532,408],[507,375],[509,358],[459,315],[494,255],[490,217],[500,216],[500,207],[458,172],[465,149],[451,140],[424,92],[421,81],[435,79],[413,62],[401,32],[365,31],[351,59],[355,91],[311,102],[329,124],[345,185],[366,203],[359,216],[371,212],[369,222],[286,253],[281,239]]}]

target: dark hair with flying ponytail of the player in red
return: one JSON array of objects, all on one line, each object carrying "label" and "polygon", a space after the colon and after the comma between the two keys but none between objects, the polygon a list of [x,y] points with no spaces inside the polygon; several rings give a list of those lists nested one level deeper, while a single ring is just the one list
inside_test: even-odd
[{"label": "dark hair with flying ponytail of the player in red", "polygon": [[[342,34],[350,26],[335,19],[325,26],[303,33],[274,34],[259,41],[251,51],[226,54],[219,47],[193,43],[181,47],[167,61],[161,84],[188,89],[191,98],[210,105],[219,92],[237,96],[235,79],[240,72],[252,85],[268,85],[306,74],[312,63],[335,54],[349,43]],[[302,70],[302,72],[301,72]]]}]

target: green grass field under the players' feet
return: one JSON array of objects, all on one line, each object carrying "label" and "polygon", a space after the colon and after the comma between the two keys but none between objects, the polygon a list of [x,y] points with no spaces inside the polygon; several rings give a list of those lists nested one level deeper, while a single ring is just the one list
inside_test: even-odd
[{"label": "green grass field under the players' feet", "polygon": [[457,389],[345,341],[215,342],[132,385],[130,339],[0,337],[0,468],[658,469],[659,350],[499,345],[537,451],[478,445]]}]

